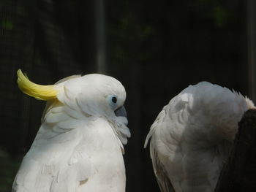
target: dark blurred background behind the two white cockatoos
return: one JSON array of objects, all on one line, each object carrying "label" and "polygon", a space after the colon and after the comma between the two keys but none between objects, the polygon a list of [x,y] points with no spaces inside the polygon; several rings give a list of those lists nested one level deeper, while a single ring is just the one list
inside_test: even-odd
[{"label": "dark blurred background behind the two white cockatoos", "polygon": [[18,90],[72,74],[116,77],[132,137],[127,192],[159,191],[146,134],[162,107],[202,80],[255,97],[253,0],[0,0],[0,192],[11,190],[37,134],[44,101]]}]

